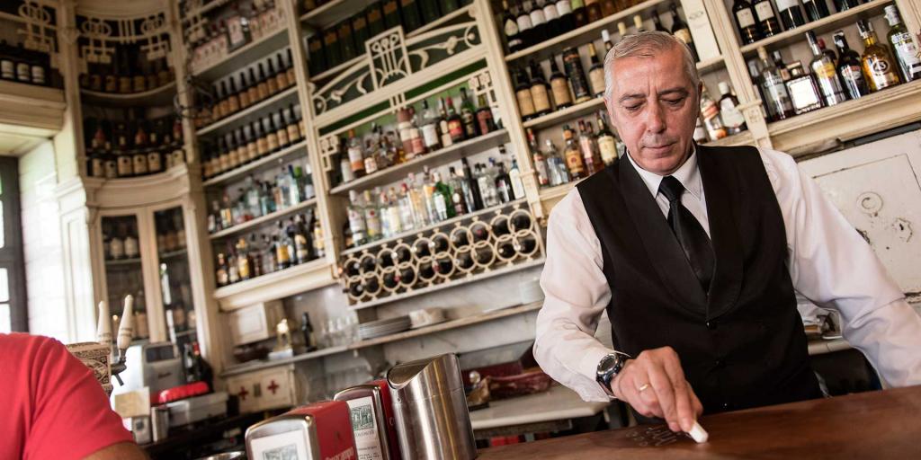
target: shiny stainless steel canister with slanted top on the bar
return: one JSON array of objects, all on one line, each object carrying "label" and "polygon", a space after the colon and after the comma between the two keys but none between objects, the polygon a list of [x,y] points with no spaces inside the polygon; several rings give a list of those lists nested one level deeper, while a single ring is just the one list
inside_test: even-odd
[{"label": "shiny stainless steel canister with slanted top on the bar", "polygon": [[476,457],[457,355],[393,366],[387,384],[405,460]]}]

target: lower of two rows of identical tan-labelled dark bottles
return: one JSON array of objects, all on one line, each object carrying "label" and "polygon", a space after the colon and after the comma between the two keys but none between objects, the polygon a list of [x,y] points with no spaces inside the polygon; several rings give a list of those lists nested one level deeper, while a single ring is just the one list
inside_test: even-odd
[{"label": "lower of two rows of identical tan-labelled dark bottles", "polygon": [[216,144],[202,142],[204,185],[261,172],[276,161],[284,162],[291,155],[304,153],[305,128],[300,106],[291,105],[219,136]]}]

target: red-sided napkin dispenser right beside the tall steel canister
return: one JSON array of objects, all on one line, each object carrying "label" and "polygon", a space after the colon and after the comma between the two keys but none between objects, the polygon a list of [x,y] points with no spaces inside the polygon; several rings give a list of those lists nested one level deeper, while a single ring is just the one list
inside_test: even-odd
[{"label": "red-sided napkin dispenser right beside the tall steel canister", "polygon": [[332,399],[348,404],[358,458],[402,458],[391,393],[386,380],[345,388]]}]

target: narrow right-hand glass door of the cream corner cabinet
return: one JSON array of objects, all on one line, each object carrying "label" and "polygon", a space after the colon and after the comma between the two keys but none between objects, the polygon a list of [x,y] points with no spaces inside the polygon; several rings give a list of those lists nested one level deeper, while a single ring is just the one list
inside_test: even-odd
[{"label": "narrow right-hand glass door of the cream corner cabinet", "polygon": [[177,206],[155,212],[154,225],[167,339],[173,339],[175,334],[176,345],[182,350],[183,344],[195,341],[196,322],[182,208]]}]

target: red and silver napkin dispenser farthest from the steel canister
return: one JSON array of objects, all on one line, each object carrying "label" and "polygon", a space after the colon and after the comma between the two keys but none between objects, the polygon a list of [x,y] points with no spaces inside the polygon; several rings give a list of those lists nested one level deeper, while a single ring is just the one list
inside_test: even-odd
[{"label": "red and silver napkin dispenser farthest from the steel canister", "polygon": [[246,431],[249,458],[355,460],[348,405],[326,401],[263,420]]}]

